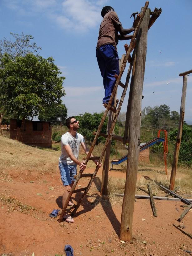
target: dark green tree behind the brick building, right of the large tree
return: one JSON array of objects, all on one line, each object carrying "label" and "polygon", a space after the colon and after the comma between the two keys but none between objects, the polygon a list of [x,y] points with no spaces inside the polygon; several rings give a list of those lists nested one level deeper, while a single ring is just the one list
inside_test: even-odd
[{"label": "dark green tree behind the brick building, right of the large tree", "polygon": [[44,109],[44,112],[39,113],[38,119],[40,121],[55,122],[58,121],[58,118],[60,118],[60,121],[63,121],[67,117],[65,104],[53,103],[52,105],[44,106]]}]

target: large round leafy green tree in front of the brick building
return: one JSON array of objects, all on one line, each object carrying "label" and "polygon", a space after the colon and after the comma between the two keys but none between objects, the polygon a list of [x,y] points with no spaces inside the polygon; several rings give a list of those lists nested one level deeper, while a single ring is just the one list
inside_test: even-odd
[{"label": "large round leafy green tree in front of the brick building", "polygon": [[[45,112],[45,106],[61,104],[65,95],[62,83],[65,77],[54,64],[53,58],[44,59],[28,53],[14,60],[4,54],[0,69],[0,95],[7,114],[22,119],[33,118]],[[18,138],[19,140],[19,138]]]}]

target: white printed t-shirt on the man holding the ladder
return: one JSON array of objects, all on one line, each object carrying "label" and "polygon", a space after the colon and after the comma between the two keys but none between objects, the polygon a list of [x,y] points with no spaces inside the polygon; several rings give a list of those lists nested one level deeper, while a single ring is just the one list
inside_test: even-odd
[{"label": "white printed t-shirt on the man holding the ladder", "polygon": [[73,137],[69,132],[66,132],[61,137],[61,156],[59,162],[67,165],[75,165],[76,163],[71,160],[67,154],[64,145],[69,145],[73,155],[78,158],[79,156],[79,145],[81,142],[85,142],[83,135],[76,133],[76,137]]}]

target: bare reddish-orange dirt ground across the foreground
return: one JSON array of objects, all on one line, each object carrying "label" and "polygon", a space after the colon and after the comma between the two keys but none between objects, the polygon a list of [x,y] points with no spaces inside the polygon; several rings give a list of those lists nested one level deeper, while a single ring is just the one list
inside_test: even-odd
[{"label": "bare reddish-orange dirt ground across the foreground", "polygon": [[[87,168],[85,172],[93,172],[93,169]],[[125,178],[122,172],[111,171],[109,175]],[[150,201],[137,199],[133,242],[122,243],[118,236],[123,199],[116,197],[112,204],[107,198],[102,199],[97,190],[101,183],[99,178],[101,170],[78,209],[75,222],[69,224],[59,223],[58,217],[49,217],[53,209],[62,209],[63,186],[57,165],[52,173],[46,174],[27,170],[24,174],[18,169],[9,171],[7,179],[0,181],[0,198],[11,197],[35,209],[24,208],[16,201],[0,201],[0,255],[65,255],[65,244],[74,248],[74,255],[85,256],[189,255],[182,249],[192,250],[191,239],[172,225],[179,224],[182,202],[156,200],[158,217],[153,217]],[[88,180],[83,178],[79,184],[86,186]],[[77,197],[79,195],[73,198],[74,202]],[[184,230],[189,233],[192,233],[191,217],[192,212],[188,212],[180,223],[185,224]]]}]

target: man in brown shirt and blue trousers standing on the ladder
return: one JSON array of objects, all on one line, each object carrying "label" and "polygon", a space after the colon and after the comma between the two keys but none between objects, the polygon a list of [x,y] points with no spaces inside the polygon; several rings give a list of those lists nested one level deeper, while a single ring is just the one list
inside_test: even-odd
[{"label": "man in brown shirt and blue trousers standing on the ladder", "polygon": [[[119,57],[117,53],[118,40],[131,39],[132,35],[125,36],[135,30],[134,27],[124,29],[119,18],[111,6],[103,7],[101,11],[103,21],[99,28],[99,37],[96,47],[96,57],[103,77],[105,97],[103,106],[106,108],[119,75]],[[120,35],[118,35],[118,32]],[[112,102],[112,105],[114,102]],[[111,110],[116,112],[116,108],[111,106]]]}]

